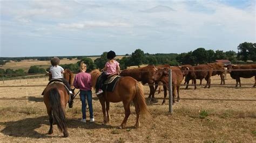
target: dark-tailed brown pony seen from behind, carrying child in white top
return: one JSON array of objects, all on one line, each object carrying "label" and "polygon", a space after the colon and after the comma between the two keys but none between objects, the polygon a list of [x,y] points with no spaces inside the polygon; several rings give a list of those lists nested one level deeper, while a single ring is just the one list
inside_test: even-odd
[{"label": "dark-tailed brown pony seen from behind, carrying child in white top", "polygon": [[44,90],[44,104],[46,105],[47,113],[50,121],[50,130],[48,134],[52,134],[53,119],[60,132],[63,132],[64,137],[68,137],[69,133],[66,128],[65,108],[69,102],[69,95],[66,92],[64,84],[53,82]]}]

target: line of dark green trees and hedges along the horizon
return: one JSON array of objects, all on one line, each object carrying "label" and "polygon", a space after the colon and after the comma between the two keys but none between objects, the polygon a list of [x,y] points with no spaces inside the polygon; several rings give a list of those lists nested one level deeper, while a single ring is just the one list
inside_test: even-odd
[{"label": "line of dark green trees and hedges along the horizon", "polygon": [[[239,63],[241,61],[254,61],[256,62],[256,44],[251,42],[244,42],[238,45],[238,53],[234,51],[213,51],[212,49],[206,50],[205,48],[197,48],[194,51],[190,51],[187,53],[170,53],[170,54],[149,54],[144,53],[142,49],[136,49],[131,55],[126,54],[123,56],[122,59],[116,59],[120,63],[121,69],[126,69],[126,67],[130,66],[139,66],[139,65],[163,65],[169,64],[171,66],[178,66],[178,65],[198,65],[202,63],[210,63],[215,62],[215,60],[230,60],[232,63]],[[102,69],[105,66],[107,61],[106,58],[107,52],[103,52],[99,58],[92,61],[90,56],[60,56],[60,59],[68,58],[73,59],[77,58],[79,61],[77,63],[65,64],[60,65],[64,69],[70,69],[74,73],[79,72],[79,65],[80,62],[84,61],[87,65],[87,71],[90,72],[93,69]],[[52,57],[41,57],[44,60],[50,60]],[[0,58],[1,59],[1,58]],[[24,59],[31,59],[31,58],[24,58]],[[5,59],[6,60],[6,59]],[[14,60],[14,59],[8,59]],[[37,59],[38,60],[38,59]],[[1,61],[1,60],[0,60]],[[3,61],[3,60],[2,60]],[[5,62],[5,61],[4,61]],[[1,62],[0,62],[1,63]],[[61,61],[60,61],[61,63]],[[46,69],[46,70],[49,70]],[[28,74],[39,74],[45,73],[45,69],[39,66],[31,66],[28,70]],[[17,74],[17,76],[22,76],[27,73],[23,69],[12,70],[12,69],[0,69],[0,76],[3,77],[4,74]],[[5,75],[8,76],[8,75]],[[10,75],[14,77],[15,75]]]}]

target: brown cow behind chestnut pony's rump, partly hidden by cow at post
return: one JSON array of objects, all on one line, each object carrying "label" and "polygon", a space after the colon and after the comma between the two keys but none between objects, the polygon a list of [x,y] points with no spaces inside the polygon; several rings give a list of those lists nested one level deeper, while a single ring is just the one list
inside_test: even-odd
[{"label": "brown cow behind chestnut pony's rump, partly hidden by cow at post", "polygon": [[[170,67],[170,65],[165,65],[167,67]],[[153,83],[155,82],[152,79],[153,73],[157,70],[158,66],[154,67],[153,65],[149,65],[146,67],[141,67],[141,68],[136,68],[136,69],[125,69],[122,70],[120,73],[120,76],[131,76],[134,79],[136,79],[137,81],[142,82],[142,84],[150,84],[150,94],[148,98],[154,98],[154,86]],[[156,81],[156,83],[158,83]]]}]

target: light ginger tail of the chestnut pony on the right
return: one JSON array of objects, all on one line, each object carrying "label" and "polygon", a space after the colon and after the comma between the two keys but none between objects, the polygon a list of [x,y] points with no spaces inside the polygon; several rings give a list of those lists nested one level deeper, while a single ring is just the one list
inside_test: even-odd
[{"label": "light ginger tail of the chestnut pony on the right", "polygon": [[138,99],[139,110],[140,110],[141,115],[143,115],[146,118],[151,118],[149,110],[147,110],[147,104],[146,104],[145,97],[144,97],[142,83],[136,82],[136,96]]}]

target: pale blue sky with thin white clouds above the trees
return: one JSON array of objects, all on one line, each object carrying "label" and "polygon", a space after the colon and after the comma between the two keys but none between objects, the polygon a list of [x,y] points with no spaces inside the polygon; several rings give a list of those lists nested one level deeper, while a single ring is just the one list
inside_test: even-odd
[{"label": "pale blue sky with thin white clouds above the trees", "polygon": [[0,4],[0,57],[237,52],[240,43],[256,42],[254,0]]}]

